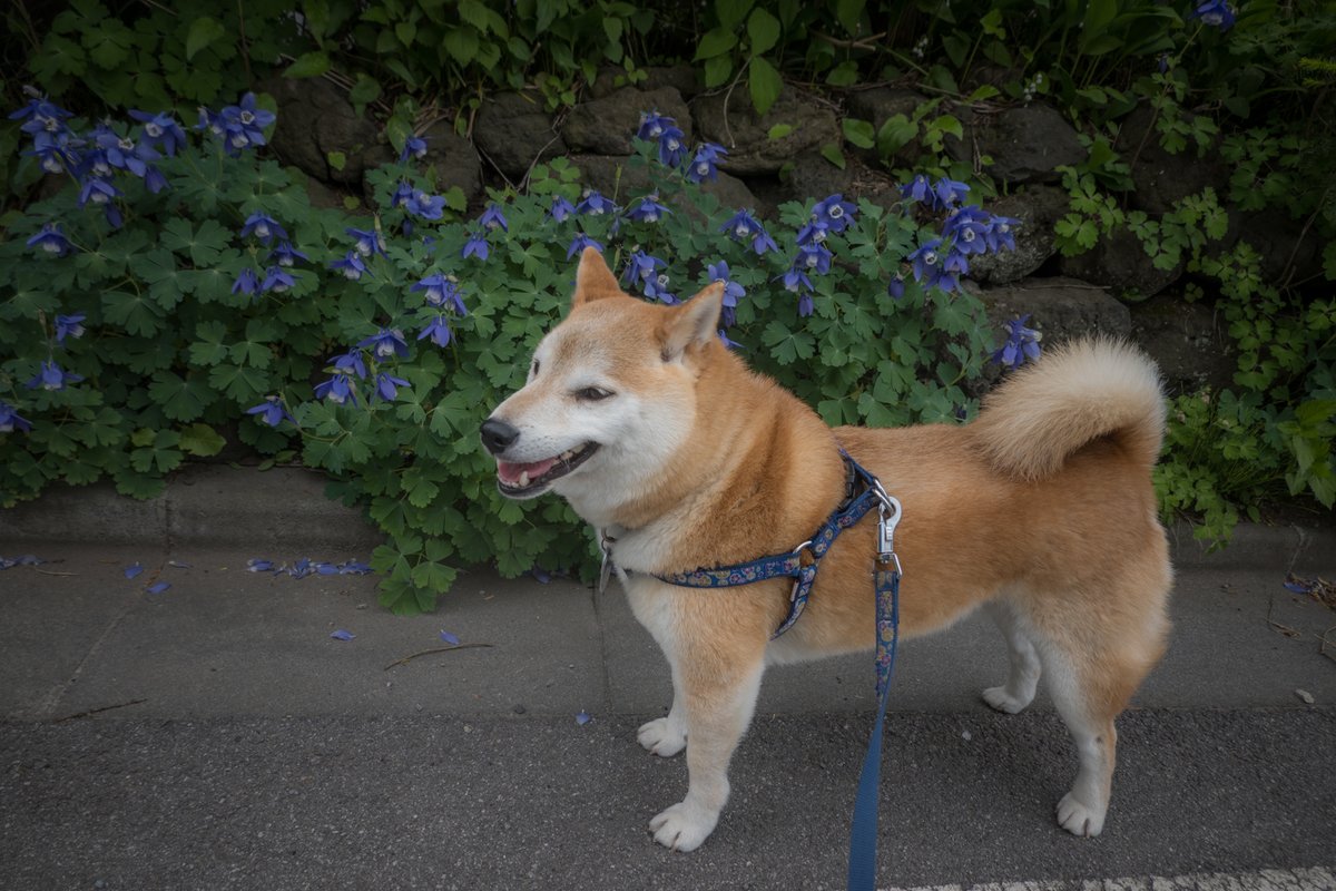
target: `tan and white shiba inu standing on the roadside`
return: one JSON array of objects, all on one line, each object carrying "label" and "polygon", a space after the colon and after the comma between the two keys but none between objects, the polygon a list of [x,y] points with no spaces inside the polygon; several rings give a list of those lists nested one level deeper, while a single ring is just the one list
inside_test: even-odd
[{"label": "tan and white shiba inu standing on the roadside", "polygon": [[655,840],[691,851],[713,831],[767,664],[874,645],[875,521],[836,540],[802,618],[774,640],[788,578],[712,590],[655,573],[798,546],[844,496],[842,448],[903,505],[902,635],[977,608],[997,621],[1010,668],[983,700],[1019,712],[1047,677],[1079,756],[1057,819],[1098,835],[1114,717],[1169,628],[1172,570],[1150,482],[1164,429],[1156,369],[1130,347],[1082,342],[1013,374],[971,423],[832,430],[724,347],[721,298],[716,283],[652,306],[587,250],[569,315],[482,426],[504,494],[554,492],[601,532],[632,610],[668,657],[672,707],[639,737],[664,757],[685,748],[688,787],[651,820]]}]

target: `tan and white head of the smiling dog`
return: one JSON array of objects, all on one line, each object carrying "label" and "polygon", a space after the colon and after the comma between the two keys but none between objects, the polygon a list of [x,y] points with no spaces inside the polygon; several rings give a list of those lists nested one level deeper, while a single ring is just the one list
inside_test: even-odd
[{"label": "tan and white head of the smiling dog", "polygon": [[528,383],[482,423],[501,493],[550,489],[596,521],[652,485],[691,431],[696,378],[725,353],[721,305],[717,282],[679,306],[628,297],[587,248],[569,315],[538,343]]}]

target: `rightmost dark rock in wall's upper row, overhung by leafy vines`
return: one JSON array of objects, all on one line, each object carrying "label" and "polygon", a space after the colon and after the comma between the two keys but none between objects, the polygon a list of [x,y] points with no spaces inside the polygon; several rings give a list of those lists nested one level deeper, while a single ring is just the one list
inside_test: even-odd
[{"label": "rightmost dark rock in wall's upper row, overhung by leafy vines", "polygon": [[1224,202],[1228,196],[1229,171],[1217,155],[1201,158],[1196,146],[1177,155],[1160,147],[1154,112],[1148,106],[1136,108],[1122,122],[1114,148],[1132,164],[1130,194],[1133,207],[1148,214],[1166,214],[1176,202],[1196,195],[1210,186]]}]

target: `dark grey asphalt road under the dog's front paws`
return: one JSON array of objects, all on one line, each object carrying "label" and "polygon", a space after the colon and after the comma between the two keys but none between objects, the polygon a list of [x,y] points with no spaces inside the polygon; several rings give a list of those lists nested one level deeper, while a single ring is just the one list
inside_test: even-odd
[{"label": "dark grey asphalt road under the dog's front paws", "polygon": [[[866,717],[760,717],[693,854],[645,831],[685,767],[639,720],[0,724],[0,887],[843,887]],[[1331,709],[1128,713],[1097,839],[1054,824],[1074,755],[1051,712],[902,712],[887,748],[886,884],[1336,864]]]}]

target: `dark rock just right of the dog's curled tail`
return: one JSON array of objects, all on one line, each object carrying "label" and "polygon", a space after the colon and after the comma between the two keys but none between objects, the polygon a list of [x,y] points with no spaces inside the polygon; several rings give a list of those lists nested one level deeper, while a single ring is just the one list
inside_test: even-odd
[{"label": "dark rock just right of the dog's curled tail", "polygon": [[1233,342],[1210,306],[1161,294],[1130,311],[1132,339],[1160,366],[1170,395],[1233,383]]}]

